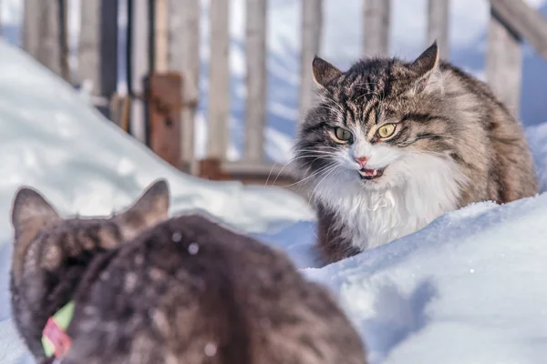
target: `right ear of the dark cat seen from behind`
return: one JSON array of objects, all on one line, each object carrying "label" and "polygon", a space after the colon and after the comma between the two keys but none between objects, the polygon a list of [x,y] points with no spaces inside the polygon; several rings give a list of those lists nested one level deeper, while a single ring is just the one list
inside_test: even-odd
[{"label": "right ear of the dark cat seen from behind", "polygon": [[119,214],[126,227],[126,238],[132,238],[141,230],[152,227],[169,217],[170,192],[167,181],[157,180],[150,184],[137,201]]}]

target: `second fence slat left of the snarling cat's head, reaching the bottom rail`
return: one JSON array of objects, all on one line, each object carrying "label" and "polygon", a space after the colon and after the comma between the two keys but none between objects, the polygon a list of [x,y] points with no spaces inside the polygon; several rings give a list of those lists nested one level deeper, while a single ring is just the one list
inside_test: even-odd
[{"label": "second fence slat left of the snarling cat's head, reaching the bottom rail", "polygon": [[243,159],[262,162],[266,119],[266,0],[247,0],[247,100]]}]

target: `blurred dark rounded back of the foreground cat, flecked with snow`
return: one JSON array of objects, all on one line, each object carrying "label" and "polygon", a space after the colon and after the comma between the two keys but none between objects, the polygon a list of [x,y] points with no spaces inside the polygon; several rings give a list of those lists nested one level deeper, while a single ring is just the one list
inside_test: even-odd
[{"label": "blurred dark rounded back of the foreground cat, flecked with snow", "polygon": [[98,259],[78,292],[70,329],[111,327],[75,342],[79,358],[133,362],[129,350],[143,363],[366,362],[324,288],[283,253],[200,216],[171,218]]}]

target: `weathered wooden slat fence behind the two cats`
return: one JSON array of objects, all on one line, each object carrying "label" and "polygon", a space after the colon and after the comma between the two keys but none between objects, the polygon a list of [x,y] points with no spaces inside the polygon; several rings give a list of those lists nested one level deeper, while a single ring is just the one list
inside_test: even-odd
[{"label": "weathered wooden slat fence behind the two cats", "polygon": [[[457,0],[455,0],[457,1]],[[488,1],[488,0],[483,0]],[[67,72],[66,0],[25,1],[25,48],[40,62],[70,80]],[[262,181],[277,175],[283,166],[264,162],[264,125],[267,115],[266,29],[267,0],[246,0],[245,56],[247,102],[243,158],[226,160],[229,144],[229,14],[230,0],[211,0],[211,62],[209,69],[209,109],[207,157],[194,157],[194,116],[200,81],[200,0],[128,0],[128,84],[129,99],[124,112],[114,113],[124,128],[149,146],[150,133],[161,123],[180,124],[177,134],[167,143],[178,148],[180,156],[170,163],[201,177],[238,178]],[[117,19],[119,0],[81,0],[81,34],[79,36],[80,79],[92,81],[92,91],[103,105],[116,99]],[[363,0],[363,56],[387,56],[391,1]],[[302,0],[300,115],[311,105],[314,83],[311,63],[321,53],[323,0]],[[56,21],[51,19],[56,18]],[[61,19],[59,21],[58,19]],[[547,22],[542,15],[521,0],[490,0],[486,76],[494,92],[518,114],[521,92],[521,43],[526,40],[547,59]],[[133,26],[138,24],[138,26]],[[437,39],[441,56],[449,56],[449,0],[428,0],[428,43]],[[49,39],[49,41],[47,41]],[[52,39],[56,41],[52,41]],[[426,46],[426,45],[424,45]],[[175,72],[172,74],[170,72]],[[152,84],[160,85],[156,99],[147,94],[142,82],[152,75],[163,76]],[[181,75],[177,78],[171,76]],[[173,88],[174,87],[174,88]],[[178,87],[178,89],[177,89]],[[150,93],[149,93],[150,94]],[[173,95],[179,99],[173,98]],[[152,104],[150,104],[152,103]],[[163,108],[160,108],[160,106]],[[150,108],[156,107],[156,114]],[[119,111],[119,108],[115,110]],[[165,110],[168,110],[166,112]],[[163,111],[161,111],[163,110]],[[103,110],[108,115],[108,110]],[[154,115],[159,119],[150,120]],[[156,123],[156,124],[154,124]],[[156,126],[154,126],[156,125]],[[161,137],[173,137],[164,126]],[[161,128],[160,127],[160,128]],[[161,145],[161,138],[158,145]],[[156,146],[158,147],[158,146]],[[172,156],[172,153],[171,153]],[[180,163],[181,162],[181,163]],[[288,180],[282,176],[281,183]]]}]

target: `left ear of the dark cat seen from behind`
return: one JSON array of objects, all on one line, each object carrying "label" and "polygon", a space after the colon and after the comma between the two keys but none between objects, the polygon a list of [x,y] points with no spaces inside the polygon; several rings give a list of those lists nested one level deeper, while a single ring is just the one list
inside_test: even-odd
[{"label": "left ear of the dark cat seen from behind", "polygon": [[55,208],[34,189],[22,187],[15,193],[11,220],[16,244],[28,243],[42,227],[59,218]]}]

